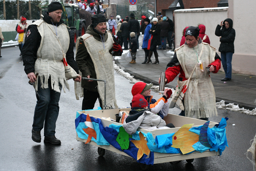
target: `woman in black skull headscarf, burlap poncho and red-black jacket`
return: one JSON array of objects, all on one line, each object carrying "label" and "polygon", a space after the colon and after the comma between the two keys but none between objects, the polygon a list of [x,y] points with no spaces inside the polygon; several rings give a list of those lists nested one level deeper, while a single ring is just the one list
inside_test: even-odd
[{"label": "woman in black skull headscarf, burlap poncho and red-black jacket", "polygon": [[[183,98],[185,109],[180,115],[208,121],[209,117],[217,116],[215,92],[210,73],[219,71],[221,59],[215,47],[202,42],[199,30],[198,27],[193,26],[186,29],[185,44],[175,49],[173,58],[167,64],[165,83],[173,81],[179,73],[180,81],[187,80],[192,74]],[[199,57],[202,47],[202,55]],[[196,68],[195,65],[197,65]],[[210,67],[210,71],[207,72],[205,67]]]}]

